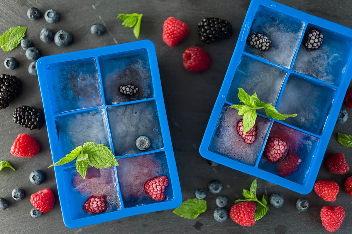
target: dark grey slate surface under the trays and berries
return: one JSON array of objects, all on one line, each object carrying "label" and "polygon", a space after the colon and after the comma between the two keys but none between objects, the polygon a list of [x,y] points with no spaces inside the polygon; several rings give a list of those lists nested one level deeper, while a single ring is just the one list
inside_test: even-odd
[{"label": "dark grey slate surface under the trays and berries", "polygon": [[[347,27],[352,27],[351,4],[348,1],[328,0],[280,0],[283,4],[300,9],[304,12],[332,20]],[[38,47],[42,55],[78,51],[101,46],[114,45],[136,40],[132,29],[124,28],[116,19],[119,13],[143,13],[140,39],[152,40],[157,49],[159,69],[163,85],[166,112],[168,114],[171,138],[180,175],[184,199],[194,197],[196,188],[206,189],[212,179],[224,183],[220,193],[226,195],[230,209],[231,202],[241,196],[242,188],[249,188],[253,176],[235,171],[225,166],[210,167],[203,159],[198,148],[224,78],[228,62],[235,47],[240,27],[245,17],[249,0],[226,1],[19,1],[8,0],[0,2],[0,32],[12,26],[28,26],[27,38]],[[30,21],[26,16],[29,7],[36,6],[44,13],[47,9],[56,9],[61,14],[61,20],[56,24],[48,24],[41,18]],[[187,39],[174,48],[166,46],[162,41],[162,25],[168,16],[183,20],[189,25]],[[211,45],[200,42],[196,27],[197,22],[206,16],[217,16],[229,20],[234,27],[232,38]],[[108,32],[96,38],[89,28],[92,24],[104,22]],[[67,48],[59,48],[54,42],[44,44],[39,40],[42,28],[49,27],[53,31],[66,29],[74,36],[74,43]],[[189,46],[201,46],[212,56],[212,66],[208,71],[189,73],[182,66],[182,52]],[[346,218],[337,233],[350,233],[352,223],[352,198],[342,189],[344,180],[352,175],[333,175],[322,166],[318,179],[337,181],[341,187],[335,202],[325,202],[313,192],[305,197],[310,200],[311,207],[300,213],[295,208],[296,200],[301,196],[295,192],[276,186],[264,180],[258,180],[258,193],[270,195],[273,192],[282,193],[285,204],[280,209],[272,208],[269,213],[252,227],[241,227],[232,220],[218,223],[213,219],[216,195],[209,194],[206,198],[208,210],[195,220],[186,220],[174,215],[171,210],[143,214],[121,220],[115,220],[89,227],[68,229],[64,226],[58,199],[55,207],[39,219],[31,218],[30,194],[39,189],[49,187],[54,190],[57,198],[54,170],[46,169],[52,163],[46,127],[40,131],[29,131],[12,122],[14,108],[30,105],[42,108],[37,78],[27,72],[30,63],[25,58],[25,51],[18,47],[11,52],[0,51],[1,61],[7,56],[13,56],[19,61],[19,67],[8,71],[0,64],[1,72],[16,75],[21,79],[23,91],[11,102],[10,107],[0,111],[0,148],[1,160],[9,160],[17,169],[13,172],[4,169],[0,172],[0,196],[10,202],[9,207],[0,212],[0,233],[324,233],[319,213],[326,205],[341,205],[346,210]],[[190,89],[193,91],[190,92]],[[352,112],[349,111],[352,116]],[[351,117],[352,118],[352,117]],[[352,133],[352,119],[344,125],[337,126],[329,142],[326,156],[343,152],[347,163],[352,167],[351,149],[342,147],[336,141],[337,132]],[[19,133],[30,133],[40,143],[42,150],[34,158],[15,158],[10,154],[10,147]],[[47,180],[39,186],[29,182],[28,176],[33,169],[42,169]],[[23,188],[26,197],[22,201],[14,201],[11,191],[15,187]]]}]

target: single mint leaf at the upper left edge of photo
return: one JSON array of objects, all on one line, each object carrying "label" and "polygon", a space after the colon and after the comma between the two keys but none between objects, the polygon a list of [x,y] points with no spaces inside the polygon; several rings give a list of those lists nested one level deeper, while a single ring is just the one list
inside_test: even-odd
[{"label": "single mint leaf at the upper left edge of photo", "polygon": [[12,27],[0,36],[0,46],[4,51],[12,51],[26,35],[27,27]]}]

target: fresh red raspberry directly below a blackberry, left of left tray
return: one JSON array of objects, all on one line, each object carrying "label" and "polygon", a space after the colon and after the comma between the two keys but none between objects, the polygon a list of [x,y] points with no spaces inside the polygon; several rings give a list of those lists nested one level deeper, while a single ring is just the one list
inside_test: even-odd
[{"label": "fresh red raspberry directly below a blackberry, left of left tray", "polygon": [[33,157],[40,151],[40,146],[30,135],[20,133],[11,147],[11,154],[16,157]]}]

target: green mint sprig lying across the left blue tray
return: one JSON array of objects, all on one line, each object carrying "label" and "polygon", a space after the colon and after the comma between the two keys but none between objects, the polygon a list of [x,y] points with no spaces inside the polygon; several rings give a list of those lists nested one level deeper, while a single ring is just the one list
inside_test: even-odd
[{"label": "green mint sprig lying across the left blue tray", "polygon": [[93,141],[89,141],[84,143],[83,146],[77,146],[73,149],[73,151],[71,151],[71,153],[66,154],[65,157],[49,167],[64,165],[75,160],[76,158],[76,169],[83,179],[86,178],[88,164],[99,169],[119,166],[115,156],[107,146],[104,146],[103,144],[95,144]]}]

